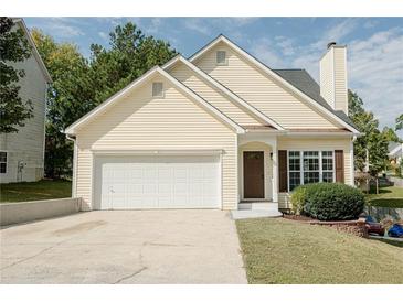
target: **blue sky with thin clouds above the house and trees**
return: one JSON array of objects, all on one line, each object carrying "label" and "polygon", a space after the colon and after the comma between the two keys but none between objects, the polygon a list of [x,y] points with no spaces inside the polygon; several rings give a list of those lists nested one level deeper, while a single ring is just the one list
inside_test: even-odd
[{"label": "blue sky with thin clouds above the house and trees", "polygon": [[[403,114],[403,18],[24,18],[59,42],[108,45],[117,24],[135,22],[146,34],[167,40],[184,56],[220,33],[272,68],[305,68],[318,79],[326,44],[348,45],[349,87],[381,126]],[[403,134],[402,132],[400,133]]]}]

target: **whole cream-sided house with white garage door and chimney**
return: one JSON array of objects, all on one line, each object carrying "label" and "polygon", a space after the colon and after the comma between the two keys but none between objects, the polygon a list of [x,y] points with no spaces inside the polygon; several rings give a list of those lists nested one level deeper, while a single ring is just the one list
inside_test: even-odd
[{"label": "whole cream-sided house with white garage door and chimney", "polygon": [[220,35],[153,67],[70,126],[73,195],[86,209],[221,208],[278,202],[310,182],[353,185],[346,46],[271,69]]}]

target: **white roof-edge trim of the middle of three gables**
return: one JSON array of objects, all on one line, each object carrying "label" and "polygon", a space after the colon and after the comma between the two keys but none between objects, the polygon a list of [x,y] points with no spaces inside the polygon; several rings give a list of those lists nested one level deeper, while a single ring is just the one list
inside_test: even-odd
[{"label": "white roof-edge trim of the middle of three gables", "polygon": [[171,61],[166,63],[162,68],[169,69],[173,65],[178,64],[179,62],[183,63],[185,66],[188,66],[191,71],[193,71],[197,75],[202,77],[205,82],[210,83],[214,88],[226,95],[229,98],[231,98],[233,101],[235,101],[237,105],[240,105],[242,108],[246,109],[250,114],[252,114],[254,117],[257,117],[258,119],[267,122],[269,126],[274,127],[277,130],[284,130],[284,128],[275,122],[273,119],[265,116],[263,112],[257,110],[255,107],[246,103],[244,99],[238,97],[236,94],[231,91],[229,88],[226,88],[224,85],[222,85],[220,82],[204,73],[202,69],[200,69],[194,64],[190,63],[188,60],[185,60],[182,55],[177,55]]}]

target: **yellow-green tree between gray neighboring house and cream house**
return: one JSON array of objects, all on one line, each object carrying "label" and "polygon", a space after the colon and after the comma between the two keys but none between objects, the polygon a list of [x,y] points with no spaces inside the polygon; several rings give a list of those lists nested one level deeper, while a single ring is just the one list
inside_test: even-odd
[{"label": "yellow-green tree between gray neighboring house and cream house", "polygon": [[89,67],[74,44],[56,43],[35,29],[32,37],[53,78],[46,105],[45,173],[65,176],[72,170],[73,145],[63,130],[95,106]]}]

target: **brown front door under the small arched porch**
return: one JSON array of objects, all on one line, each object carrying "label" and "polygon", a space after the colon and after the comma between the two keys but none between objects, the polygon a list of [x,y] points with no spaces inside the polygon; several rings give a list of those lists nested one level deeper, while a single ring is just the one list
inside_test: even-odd
[{"label": "brown front door under the small arched porch", "polygon": [[265,197],[263,151],[244,152],[244,198]]}]

